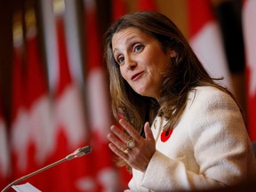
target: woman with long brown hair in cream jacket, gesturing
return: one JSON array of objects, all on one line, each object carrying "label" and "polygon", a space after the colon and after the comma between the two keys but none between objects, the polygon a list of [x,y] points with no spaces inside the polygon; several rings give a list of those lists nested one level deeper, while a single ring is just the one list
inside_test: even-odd
[{"label": "woman with long brown hair in cream jacket, gesturing", "polygon": [[234,97],[216,84],[180,30],[134,12],[106,33],[113,114],[109,148],[132,168],[127,191],[204,190],[255,175],[252,144]]}]

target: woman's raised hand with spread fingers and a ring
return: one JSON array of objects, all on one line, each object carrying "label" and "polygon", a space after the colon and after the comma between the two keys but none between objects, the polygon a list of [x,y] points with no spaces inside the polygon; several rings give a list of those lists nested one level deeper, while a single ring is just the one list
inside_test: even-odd
[{"label": "woman's raised hand with spread fingers and a ring", "polygon": [[156,140],[148,122],[144,124],[145,139],[124,119],[120,119],[119,124],[128,134],[121,131],[116,125],[112,125],[111,133],[108,134],[110,141],[108,147],[132,168],[145,172],[150,158],[156,151]]}]

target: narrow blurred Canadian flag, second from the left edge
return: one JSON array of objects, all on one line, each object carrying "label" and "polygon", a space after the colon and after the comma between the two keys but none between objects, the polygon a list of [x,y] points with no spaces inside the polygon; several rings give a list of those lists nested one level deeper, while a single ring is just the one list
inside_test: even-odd
[{"label": "narrow blurred Canadian flag, second from the left edge", "polygon": [[[22,31],[21,23],[18,30]],[[15,28],[14,28],[15,30]],[[12,115],[10,142],[12,154],[12,180],[28,173],[28,111],[25,106],[26,85],[22,73],[22,34],[13,38]]]}]

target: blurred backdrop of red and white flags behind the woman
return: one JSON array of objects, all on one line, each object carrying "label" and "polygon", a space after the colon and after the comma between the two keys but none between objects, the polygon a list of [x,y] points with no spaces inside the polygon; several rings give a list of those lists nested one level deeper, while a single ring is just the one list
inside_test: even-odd
[{"label": "blurred backdrop of red and white flags behind the woman", "polygon": [[[107,134],[103,36],[126,12],[173,20],[212,77],[233,92],[256,140],[256,1],[1,0],[0,188],[86,145],[92,153],[25,180],[42,191],[122,191]],[[12,189],[11,189],[12,190]]]}]

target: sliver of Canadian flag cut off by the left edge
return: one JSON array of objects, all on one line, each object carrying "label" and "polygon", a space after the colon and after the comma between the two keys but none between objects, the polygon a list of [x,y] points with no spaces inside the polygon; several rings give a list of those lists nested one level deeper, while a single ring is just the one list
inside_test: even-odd
[{"label": "sliver of Canadian flag cut off by the left edge", "polygon": [[0,188],[4,188],[10,181],[11,159],[6,130],[7,127],[2,114],[1,104],[2,103],[0,103]]}]

